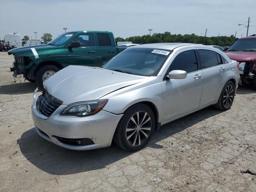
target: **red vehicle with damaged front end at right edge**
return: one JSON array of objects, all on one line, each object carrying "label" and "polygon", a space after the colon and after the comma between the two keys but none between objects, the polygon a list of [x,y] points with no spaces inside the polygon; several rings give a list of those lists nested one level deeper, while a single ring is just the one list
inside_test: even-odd
[{"label": "red vehicle with damaged front end at right edge", "polygon": [[239,84],[252,83],[256,90],[256,34],[238,39],[224,51],[230,59],[239,64]]}]

